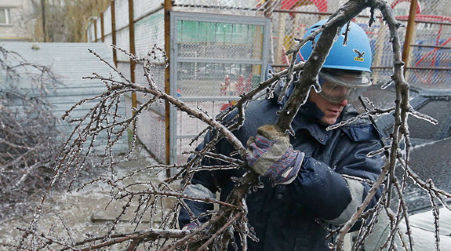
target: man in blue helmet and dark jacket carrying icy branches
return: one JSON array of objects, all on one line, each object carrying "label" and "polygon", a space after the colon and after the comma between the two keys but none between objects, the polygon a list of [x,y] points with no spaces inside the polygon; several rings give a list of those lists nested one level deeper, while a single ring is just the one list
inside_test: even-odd
[{"label": "man in blue helmet and dark jacket carrying icy branches", "polygon": [[[325,22],[312,26],[306,36]],[[298,59],[307,59],[311,51],[311,44],[306,44]],[[249,104],[243,127],[234,132],[247,144],[248,163],[264,184],[246,198],[249,224],[259,238],[258,242],[248,240],[249,250],[330,250],[333,239],[325,239],[327,228],[345,223],[362,203],[370,184],[361,180],[376,180],[382,167],[379,156],[367,156],[381,148],[380,135],[364,119],[335,130],[326,128],[358,114],[349,102],[371,84],[366,76],[370,65],[368,38],[358,25],[351,23],[347,44],[339,36],[320,71],[322,91],[310,91],[308,101],[293,119],[294,136],[278,133],[272,126],[278,118],[276,112],[292,89],[282,102],[275,97]],[[213,134],[207,133],[204,143]],[[200,144],[197,150],[202,148]],[[221,140],[215,151],[230,156],[235,149]],[[202,164],[218,163],[206,158]],[[231,177],[244,173],[238,169],[197,172],[185,192],[215,197],[220,191],[220,200],[225,200],[235,186]],[[379,196],[378,192],[368,208],[375,205]],[[213,209],[213,205],[204,202],[186,203],[195,215]],[[207,220],[199,218],[200,223]],[[197,227],[184,209],[180,210],[179,224],[185,229]]]}]

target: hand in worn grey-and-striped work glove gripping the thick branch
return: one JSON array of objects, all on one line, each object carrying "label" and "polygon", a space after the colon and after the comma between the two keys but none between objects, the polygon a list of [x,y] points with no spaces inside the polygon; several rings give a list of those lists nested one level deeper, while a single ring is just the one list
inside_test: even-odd
[{"label": "hand in worn grey-and-striped work glove gripping the thick branch", "polygon": [[271,178],[273,185],[290,184],[298,175],[304,153],[293,150],[290,137],[274,124],[257,129],[256,138],[248,140],[246,159],[259,175]]}]

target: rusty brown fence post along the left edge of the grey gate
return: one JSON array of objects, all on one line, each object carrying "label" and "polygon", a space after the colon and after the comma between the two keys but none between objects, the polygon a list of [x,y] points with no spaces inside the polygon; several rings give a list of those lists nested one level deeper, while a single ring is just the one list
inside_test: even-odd
[{"label": "rusty brown fence post along the left edge of the grey gate", "polygon": [[[172,9],[172,1],[171,0],[164,0],[164,50],[166,51],[167,60],[169,62],[170,57],[170,18],[169,13]],[[164,91],[167,94],[170,94],[170,82],[169,82],[169,67],[164,68]],[[166,132],[166,165],[170,165],[173,163],[170,162],[170,153],[171,153],[171,146],[170,146],[170,121],[169,121],[169,109],[170,105],[169,102],[165,102],[165,132]],[[170,176],[170,170],[166,171],[166,175]]]}]

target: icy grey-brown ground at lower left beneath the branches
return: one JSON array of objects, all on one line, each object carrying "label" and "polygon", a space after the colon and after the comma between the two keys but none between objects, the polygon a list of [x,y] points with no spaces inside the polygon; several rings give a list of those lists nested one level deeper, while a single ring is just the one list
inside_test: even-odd
[{"label": "icy grey-brown ground at lower left beneath the branches", "polygon": [[[133,172],[139,167],[156,164],[151,158],[140,158],[137,161],[129,161],[121,164],[118,168],[118,175],[122,176]],[[156,175],[155,171],[142,172],[134,176],[127,182],[139,181],[161,181],[165,178],[164,172]],[[96,177],[91,177],[92,179]],[[75,189],[73,189],[75,190]],[[38,224],[38,231],[51,233],[57,239],[63,238],[67,242],[76,242],[87,237],[102,235],[108,232],[113,220],[119,215],[125,201],[110,201],[110,189],[107,185],[96,183],[89,185],[79,192],[51,191],[46,199],[46,204]],[[41,198],[30,198],[30,200],[40,201]],[[132,212],[123,217],[119,222],[116,232],[131,232],[133,227],[129,224],[132,219]],[[33,218],[33,211],[23,212],[10,219],[0,219],[0,243],[17,244],[23,232],[17,227],[26,228]],[[147,217],[148,218],[148,217]],[[155,217],[154,224],[159,223]],[[67,228],[66,228],[66,227]],[[142,228],[149,228],[149,223],[143,222]],[[12,250],[12,247],[0,245],[0,250]],[[121,246],[113,246],[108,250],[121,250]]]}]

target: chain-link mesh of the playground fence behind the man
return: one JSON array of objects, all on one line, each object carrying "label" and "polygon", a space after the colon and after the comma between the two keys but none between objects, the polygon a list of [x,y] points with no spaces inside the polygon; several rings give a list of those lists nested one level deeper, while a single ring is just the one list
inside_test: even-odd
[{"label": "chain-link mesh of the playground fence behind the man", "polygon": [[[134,47],[135,54],[144,56],[150,51],[150,48],[156,44],[160,48],[164,48],[164,11],[163,0],[146,1],[134,0],[133,2],[133,20],[134,20]],[[278,66],[279,69],[288,65],[289,56],[285,52],[294,46],[295,38],[303,37],[306,30],[319,20],[327,18],[335,12],[346,1],[332,0],[175,0],[173,1],[172,10],[180,12],[192,13],[211,13],[224,15],[237,15],[235,18],[240,20],[241,17],[267,17],[271,19],[271,36],[269,46],[269,63]],[[394,11],[398,21],[407,26],[410,1],[409,0],[389,0],[388,1]],[[129,38],[129,1],[116,0],[113,1],[114,13],[112,15],[110,6],[103,13],[103,37],[107,44],[115,43],[118,47],[130,51]],[[369,10],[363,11],[359,17],[354,19],[367,33],[370,39],[373,62],[372,77],[373,82],[381,84],[390,79],[392,74],[392,53],[391,44],[389,42],[388,28],[385,26],[380,17],[380,13],[376,13],[376,22],[372,27],[368,27]],[[89,42],[100,41],[102,38],[100,18],[93,19],[88,27],[87,35]],[[113,39],[112,24],[115,25],[115,39]],[[235,58],[237,60],[252,60],[253,50],[255,48],[244,48],[247,43],[258,45],[249,39],[255,39],[255,33],[248,28],[240,26],[228,27],[223,26],[214,28],[214,34],[226,34],[234,32],[236,36],[230,36],[230,40],[222,40],[221,43],[190,43],[190,39],[195,39],[199,34],[190,34],[195,31],[194,26],[202,25],[199,23],[185,23],[183,31],[179,31],[179,35],[183,36],[182,40],[188,41],[181,43],[177,55],[182,58],[192,57],[208,57],[205,52],[214,52],[215,57]],[[206,25],[206,24],[204,24]],[[216,25],[217,26],[217,25]],[[205,27],[203,30],[207,31]],[[218,30],[222,29],[222,30]],[[240,30],[241,29],[241,30]],[[247,29],[247,30],[246,30]],[[246,31],[245,31],[246,30]],[[198,31],[198,29],[196,30]],[[399,34],[401,44],[405,37],[406,29],[400,29]],[[213,33],[211,33],[213,34]],[[210,35],[211,35],[210,34]],[[207,34],[206,34],[207,35]],[[206,36],[205,35],[205,36]],[[217,39],[218,35],[215,39]],[[219,35],[220,36],[220,35]],[[205,37],[208,40],[208,38]],[[115,41],[113,41],[115,40]],[[243,40],[243,41],[241,41]],[[237,41],[241,41],[238,43]],[[407,61],[406,79],[412,86],[426,88],[448,88],[448,79],[451,75],[451,1],[449,0],[418,0],[417,12],[415,18],[415,29],[413,39],[410,41],[410,53]],[[221,44],[221,45],[219,45]],[[208,47],[209,46],[209,47]],[[248,50],[248,52],[246,52]],[[250,50],[250,51],[249,51]],[[202,52],[203,51],[203,52]],[[238,53],[237,53],[238,52]],[[219,55],[224,53],[222,56]],[[235,53],[235,54],[234,54]],[[199,90],[202,95],[216,96],[214,100],[191,101],[194,107],[203,107],[214,115],[220,110],[220,107],[230,105],[231,100],[225,100],[225,96],[236,96],[237,93],[247,90],[247,83],[255,85],[258,83],[254,77],[261,71],[255,64],[236,64],[234,62],[178,62],[177,63],[177,81],[181,84],[177,86],[177,93],[182,98],[196,96]],[[115,62],[118,69],[125,76],[130,77],[129,58],[121,53],[117,54]],[[158,84],[158,88],[164,89],[164,63],[160,59],[154,69],[154,78]],[[257,68],[256,68],[257,67]],[[136,77],[135,82],[144,83],[142,67],[136,66],[134,70]],[[189,73],[189,74],[188,74]],[[226,74],[227,73],[227,74]],[[229,78],[226,78],[228,75]],[[213,79],[210,79],[213,78]],[[204,82],[217,82],[218,84],[204,84]],[[240,83],[240,84],[239,84]],[[242,89],[238,89],[240,86]],[[244,87],[242,87],[244,86]],[[217,93],[216,93],[217,92]],[[218,95],[216,95],[216,94]],[[223,96],[222,99],[218,98]],[[138,95],[138,105],[143,102],[146,97]],[[127,112],[131,114],[131,98],[127,97]],[[208,107],[204,104],[208,103]],[[164,104],[157,104],[146,111],[137,122],[138,138],[147,148],[155,154],[160,162],[165,162],[165,109]],[[182,115],[177,113],[182,121]],[[200,122],[183,120],[177,123],[172,129],[179,135],[186,135],[186,138],[180,138],[176,143],[177,153],[181,153],[184,146],[190,142],[190,135],[198,132],[203,128]],[[183,131],[184,130],[184,131]],[[192,131],[192,132],[191,132]],[[189,136],[189,137],[188,137]],[[178,159],[181,161],[181,159]]]}]

